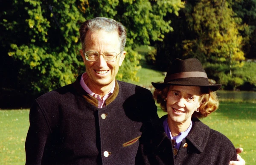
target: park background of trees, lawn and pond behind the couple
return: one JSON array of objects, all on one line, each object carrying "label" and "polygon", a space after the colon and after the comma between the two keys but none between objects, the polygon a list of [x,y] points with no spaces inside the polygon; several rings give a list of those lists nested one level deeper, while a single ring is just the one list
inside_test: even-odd
[{"label": "park background of trees, lawn and pond behind the couple", "polygon": [[118,80],[153,91],[175,58],[201,60],[211,82],[223,84],[219,110],[202,121],[256,164],[256,0],[2,0],[1,165],[25,163],[32,101],[84,72],[78,30],[93,17],[127,28]]}]

